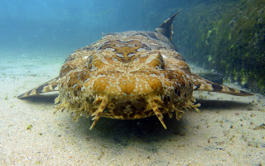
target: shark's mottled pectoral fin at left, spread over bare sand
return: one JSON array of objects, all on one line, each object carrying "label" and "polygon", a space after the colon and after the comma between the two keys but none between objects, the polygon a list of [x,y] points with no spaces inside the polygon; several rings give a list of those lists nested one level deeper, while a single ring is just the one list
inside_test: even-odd
[{"label": "shark's mottled pectoral fin at left, spread over bare sand", "polygon": [[17,96],[17,98],[21,99],[24,97],[38,95],[40,93],[58,91],[58,89],[56,89],[58,83],[59,83],[59,77],[56,77],[56,78],[40,85],[39,87],[31,89],[30,91],[23,93],[22,95]]}]

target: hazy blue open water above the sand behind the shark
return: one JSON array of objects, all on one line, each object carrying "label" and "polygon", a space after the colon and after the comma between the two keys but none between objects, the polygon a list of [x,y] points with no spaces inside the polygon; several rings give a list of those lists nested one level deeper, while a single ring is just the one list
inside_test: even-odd
[{"label": "hazy blue open water above the sand behind the shark", "polygon": [[[72,52],[100,39],[102,32],[154,30],[163,16],[147,22],[147,13],[174,7],[184,1],[0,0],[0,49]],[[176,11],[172,10],[172,14]]]}]

